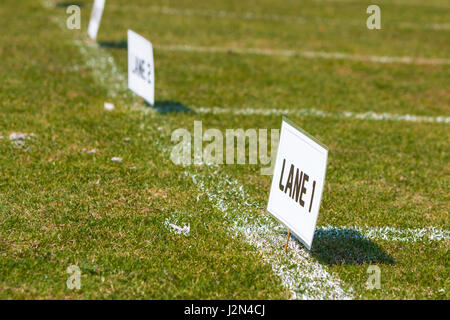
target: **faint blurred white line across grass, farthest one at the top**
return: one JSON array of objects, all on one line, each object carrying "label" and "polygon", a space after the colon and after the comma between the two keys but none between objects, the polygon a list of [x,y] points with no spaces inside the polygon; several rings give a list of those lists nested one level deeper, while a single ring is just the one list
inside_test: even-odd
[{"label": "faint blurred white line across grass, farthest one at the top", "polygon": [[[298,24],[316,24],[316,25],[332,25],[341,26],[349,25],[356,26],[360,28],[366,28],[365,16],[361,19],[330,19],[330,18],[315,18],[315,17],[304,17],[304,16],[293,16],[289,14],[270,14],[270,13],[257,13],[257,12],[233,12],[226,10],[211,10],[211,9],[193,9],[193,8],[175,8],[167,6],[109,6],[113,10],[120,10],[121,12],[127,10],[145,10],[149,13],[154,14],[164,14],[164,15],[175,15],[175,16],[186,16],[186,17],[208,17],[216,19],[240,19],[249,21],[273,21],[273,22],[284,22],[284,23],[298,23]],[[383,29],[390,29],[391,27],[398,27],[401,29],[418,29],[418,30],[450,30],[450,24],[447,23],[430,23],[423,24],[420,22],[387,22],[383,23]]]}]

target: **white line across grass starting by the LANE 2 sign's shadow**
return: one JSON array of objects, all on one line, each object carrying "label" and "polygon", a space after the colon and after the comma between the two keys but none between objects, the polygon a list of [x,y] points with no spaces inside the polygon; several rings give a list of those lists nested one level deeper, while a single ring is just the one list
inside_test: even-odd
[{"label": "white line across grass starting by the LANE 2 sign's shadow", "polygon": [[233,114],[242,116],[314,116],[321,118],[350,118],[350,119],[360,119],[360,120],[391,120],[391,121],[401,121],[401,122],[431,122],[431,123],[450,123],[450,117],[430,117],[430,116],[417,116],[411,114],[395,114],[395,113],[376,113],[376,112],[364,112],[355,113],[350,111],[342,112],[325,112],[317,109],[235,109],[235,108],[194,108],[194,111],[200,114]]}]

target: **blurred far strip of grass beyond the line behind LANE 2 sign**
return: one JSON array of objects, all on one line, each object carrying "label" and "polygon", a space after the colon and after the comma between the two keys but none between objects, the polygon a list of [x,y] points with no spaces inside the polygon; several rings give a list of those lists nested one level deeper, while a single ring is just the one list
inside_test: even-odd
[{"label": "blurred far strip of grass beyond the line behind LANE 2 sign", "polygon": [[[382,30],[369,32],[366,9],[370,4],[374,3],[118,0],[112,1],[105,12],[112,23],[104,25],[102,33],[110,38],[119,30],[134,27],[138,33],[150,34],[156,44],[449,57],[448,30],[431,28],[436,24],[449,27],[448,8],[407,7],[381,1],[377,4],[381,7]],[[142,19],[143,24],[139,23]]]}]

